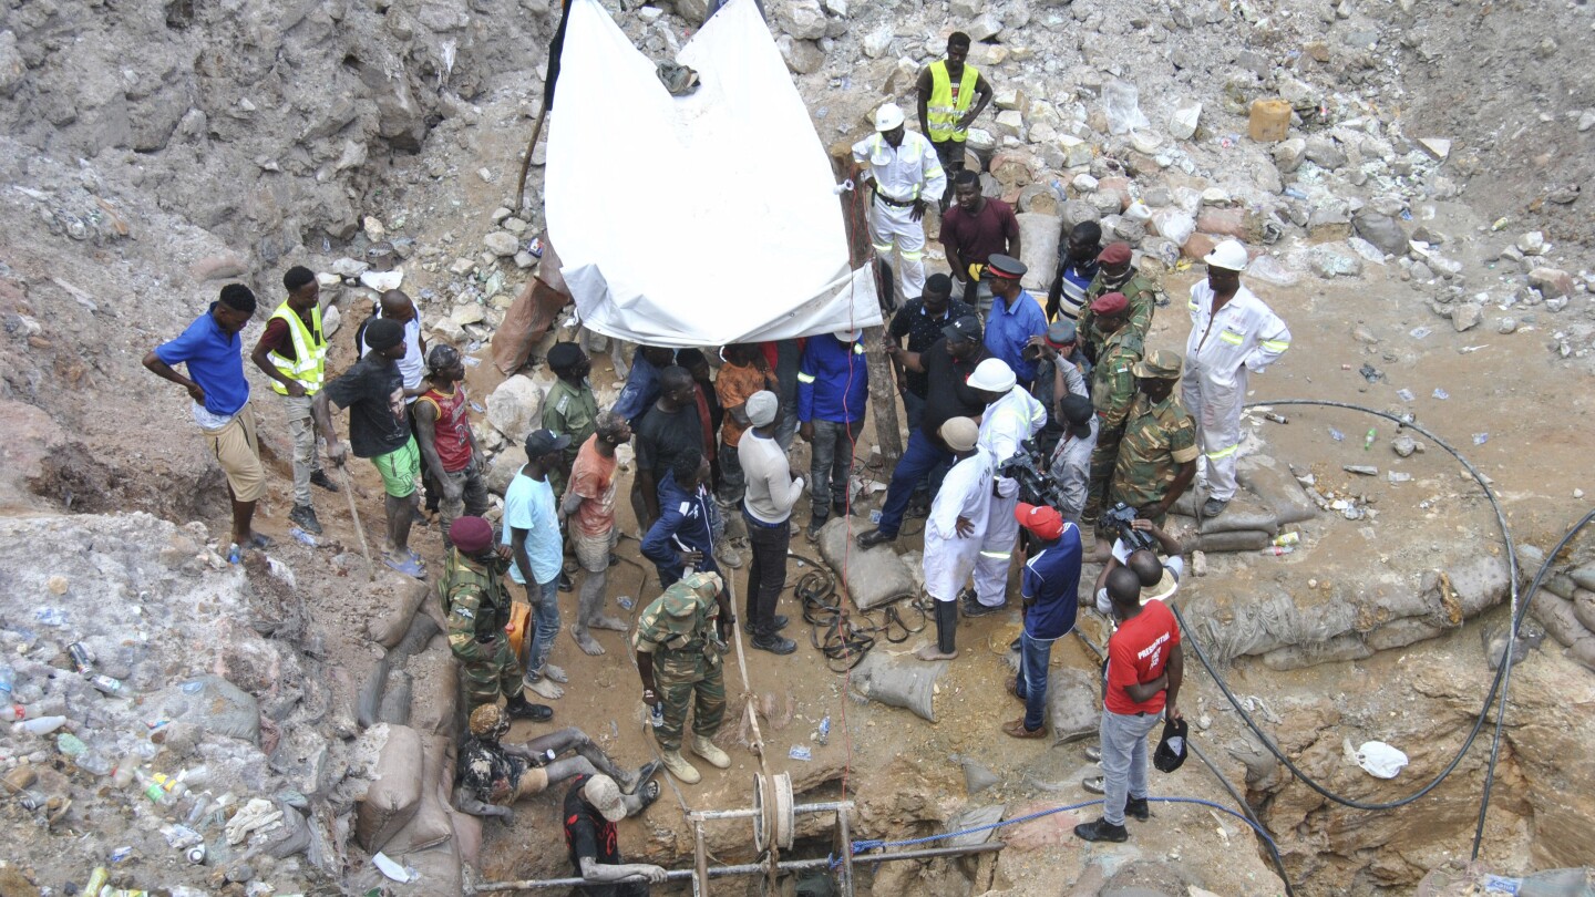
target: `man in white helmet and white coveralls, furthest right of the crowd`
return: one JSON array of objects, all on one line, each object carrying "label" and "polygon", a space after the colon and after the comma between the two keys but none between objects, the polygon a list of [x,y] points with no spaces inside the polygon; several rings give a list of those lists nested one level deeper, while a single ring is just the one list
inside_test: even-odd
[{"label": "man in white helmet and white coveralls, furthest right of the crowd", "polygon": [[1201,514],[1215,517],[1235,498],[1247,373],[1260,373],[1290,348],[1290,329],[1241,286],[1247,255],[1239,241],[1225,239],[1203,262],[1207,279],[1191,286],[1191,335],[1185,342],[1180,397],[1196,418],[1203,452],[1207,501]]}]

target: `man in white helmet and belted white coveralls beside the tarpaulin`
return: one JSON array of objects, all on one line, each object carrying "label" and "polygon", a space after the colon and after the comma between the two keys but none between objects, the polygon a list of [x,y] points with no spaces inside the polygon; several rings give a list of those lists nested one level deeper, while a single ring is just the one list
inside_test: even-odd
[{"label": "man in white helmet and belted white coveralls beside the tarpaulin", "polygon": [[874,193],[869,236],[876,254],[890,259],[896,249],[903,298],[919,298],[925,292],[925,203],[939,203],[947,190],[936,147],[903,128],[903,110],[888,102],[876,110],[876,132],[853,144],[853,161]]}]

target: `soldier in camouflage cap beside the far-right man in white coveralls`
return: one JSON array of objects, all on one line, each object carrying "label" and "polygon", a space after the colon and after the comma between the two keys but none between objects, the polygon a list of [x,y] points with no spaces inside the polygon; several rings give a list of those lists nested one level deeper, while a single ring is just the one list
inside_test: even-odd
[{"label": "soldier in camouflage cap beside the far-right man in white coveralls", "polygon": [[1137,508],[1158,527],[1196,476],[1196,421],[1174,397],[1180,356],[1158,350],[1136,364],[1140,394],[1129,409],[1109,501]]}]

